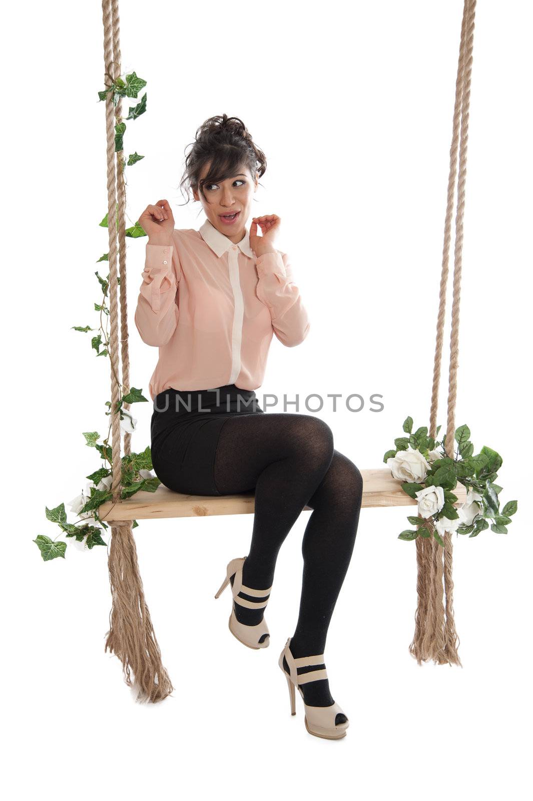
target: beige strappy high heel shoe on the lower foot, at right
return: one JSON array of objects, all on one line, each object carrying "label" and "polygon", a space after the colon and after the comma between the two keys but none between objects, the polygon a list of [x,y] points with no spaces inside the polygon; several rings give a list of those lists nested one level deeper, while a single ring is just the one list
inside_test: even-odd
[{"label": "beige strappy high heel shoe on the lower foot, at right", "polygon": [[[300,684],[307,682],[316,682],[320,678],[327,678],[327,670],[323,667],[321,670],[309,670],[307,673],[298,673],[297,668],[307,665],[323,665],[324,654],[317,654],[316,656],[303,656],[294,658],[291,654],[291,637],[288,638],[283,651],[279,657],[279,666],[283,670],[283,675],[287,678],[287,685],[289,687],[289,695],[291,696],[291,714],[296,714],[296,692],[295,687],[298,687],[299,694],[303,698],[303,691]],[[287,659],[287,665],[291,674],[283,667],[283,657]],[[339,714],[346,715],[343,709],[337,702],[331,706],[307,706],[304,701],[303,706],[306,711],[305,724],[306,729],[310,735],[315,737],[323,737],[327,740],[339,740],[341,737],[346,737],[346,730],[350,726],[350,721],[346,720],[344,723],[337,723],[335,726],[335,718]],[[346,715],[347,717],[347,715]]]}]

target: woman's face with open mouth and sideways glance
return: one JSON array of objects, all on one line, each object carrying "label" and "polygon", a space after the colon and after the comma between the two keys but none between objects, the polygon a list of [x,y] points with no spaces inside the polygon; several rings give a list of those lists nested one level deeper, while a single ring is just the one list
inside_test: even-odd
[{"label": "woman's face with open mouth and sideways glance", "polygon": [[[209,164],[204,165],[200,180],[209,171]],[[210,223],[235,244],[245,234],[246,221],[251,215],[251,204],[254,192],[258,187],[258,174],[252,179],[249,167],[237,167],[237,175],[231,175],[220,183],[204,183],[202,195],[193,190],[194,200],[201,200],[203,210]],[[237,214],[233,221],[224,215]]]}]

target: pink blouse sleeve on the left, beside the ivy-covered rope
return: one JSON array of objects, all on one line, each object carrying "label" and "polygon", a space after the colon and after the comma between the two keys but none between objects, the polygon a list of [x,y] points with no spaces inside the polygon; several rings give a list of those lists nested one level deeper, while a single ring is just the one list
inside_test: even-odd
[{"label": "pink blouse sleeve on the left, beside the ivy-covered rope", "polygon": [[143,342],[166,344],[178,325],[176,293],[181,268],[175,245],[146,244],[146,261],[135,309],[135,325]]}]

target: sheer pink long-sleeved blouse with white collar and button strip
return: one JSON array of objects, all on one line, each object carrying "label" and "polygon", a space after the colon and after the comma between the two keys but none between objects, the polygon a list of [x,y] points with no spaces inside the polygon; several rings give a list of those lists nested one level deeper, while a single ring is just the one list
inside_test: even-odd
[{"label": "sheer pink long-sleeved blouse with white collar and button strip", "polygon": [[293,348],[310,324],[287,254],[257,258],[248,229],[238,244],[210,223],[172,232],[173,244],[146,244],[135,325],[159,348],[154,400],[167,388],[257,389],[272,335]]}]

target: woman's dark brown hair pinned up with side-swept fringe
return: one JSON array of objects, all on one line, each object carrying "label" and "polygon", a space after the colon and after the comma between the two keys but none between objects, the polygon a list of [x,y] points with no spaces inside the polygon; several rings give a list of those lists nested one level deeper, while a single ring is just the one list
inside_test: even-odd
[{"label": "woman's dark brown hair pinned up with side-swept fringe", "polygon": [[[196,138],[185,159],[185,171],[179,187],[190,200],[189,191],[195,189],[204,199],[204,183],[219,183],[237,175],[238,167],[249,167],[252,179],[255,173],[259,178],[266,171],[266,156],[254,144],[250,132],[242,119],[222,116],[210,117],[196,131]],[[206,163],[210,162],[207,175],[200,180],[199,175]],[[185,187],[186,191],[183,192]]]}]

